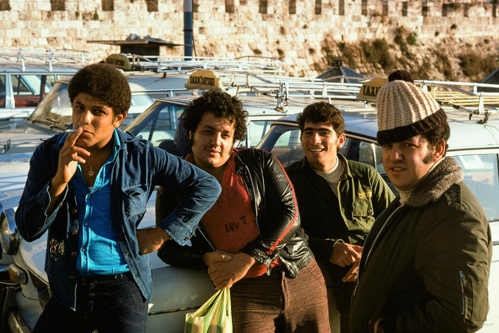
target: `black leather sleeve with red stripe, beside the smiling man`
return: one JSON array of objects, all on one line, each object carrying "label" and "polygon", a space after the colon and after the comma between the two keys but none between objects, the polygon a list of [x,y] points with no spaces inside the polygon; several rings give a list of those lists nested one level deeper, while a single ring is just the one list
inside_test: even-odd
[{"label": "black leather sleeve with red stripe, beside the smiling man", "polygon": [[[283,166],[268,152],[260,151],[264,188],[259,191],[265,200],[265,216],[257,216],[260,235],[241,252],[249,254],[267,267],[300,228],[298,207],[290,179]],[[256,175],[255,175],[256,176]],[[253,182],[255,183],[255,182]],[[263,186],[263,185],[262,185]]]}]

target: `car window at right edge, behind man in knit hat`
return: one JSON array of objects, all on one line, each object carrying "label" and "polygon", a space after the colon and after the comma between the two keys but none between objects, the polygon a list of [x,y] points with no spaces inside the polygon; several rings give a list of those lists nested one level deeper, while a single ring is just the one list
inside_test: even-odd
[{"label": "car window at right edge, behind man in knit hat", "polygon": [[472,190],[489,221],[499,219],[498,157],[495,154],[454,156],[463,181]]}]

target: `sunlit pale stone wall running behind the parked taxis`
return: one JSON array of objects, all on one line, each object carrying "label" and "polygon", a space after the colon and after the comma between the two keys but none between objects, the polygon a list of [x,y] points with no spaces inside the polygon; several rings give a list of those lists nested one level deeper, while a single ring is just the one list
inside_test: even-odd
[{"label": "sunlit pale stone wall running behind the parked taxis", "polygon": [[[436,41],[499,35],[498,0],[192,0],[195,55],[283,58],[290,74],[324,67],[330,41],[393,41],[397,28]],[[129,34],[183,44],[184,0],[0,0],[6,47],[72,48],[96,59]],[[57,9],[57,10],[56,10]],[[183,48],[162,54],[182,55]]]}]

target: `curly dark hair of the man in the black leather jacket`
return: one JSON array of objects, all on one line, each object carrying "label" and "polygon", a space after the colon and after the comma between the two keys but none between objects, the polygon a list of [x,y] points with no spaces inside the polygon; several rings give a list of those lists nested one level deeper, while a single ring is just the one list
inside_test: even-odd
[{"label": "curly dark hair of the man in the black leather jacket", "polygon": [[183,128],[187,133],[196,130],[205,112],[212,112],[217,118],[228,119],[234,124],[234,140],[242,141],[246,138],[248,112],[242,109],[239,98],[220,90],[209,90],[202,96],[191,101],[183,111]]}]

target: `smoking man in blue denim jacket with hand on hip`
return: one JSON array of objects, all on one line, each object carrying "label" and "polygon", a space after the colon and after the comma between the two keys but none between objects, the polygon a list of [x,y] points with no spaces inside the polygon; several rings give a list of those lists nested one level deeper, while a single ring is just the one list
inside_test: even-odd
[{"label": "smoking man in blue denim jacket with hand on hip", "polygon": [[[28,242],[48,230],[53,296],[34,332],[143,332],[151,299],[149,252],[185,244],[220,192],[215,178],[118,129],[131,92],[114,67],[94,64],[68,89],[74,131],[35,150],[15,214]],[[155,228],[136,229],[156,185],[180,193]]]}]

